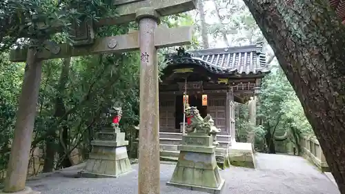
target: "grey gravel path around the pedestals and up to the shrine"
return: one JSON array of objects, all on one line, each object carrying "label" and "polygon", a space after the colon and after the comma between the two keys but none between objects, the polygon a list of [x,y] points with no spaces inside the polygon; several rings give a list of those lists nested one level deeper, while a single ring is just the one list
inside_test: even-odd
[{"label": "grey gravel path around the pedestals and up to the shrine", "polygon": [[[226,180],[224,194],[339,194],[337,187],[302,157],[256,154],[257,169],[232,167],[221,171]],[[28,181],[41,194],[129,194],[137,193],[138,165],[135,171],[117,179],[74,178],[77,168],[41,175]],[[175,166],[161,164],[162,194],[197,194],[166,186]]]}]

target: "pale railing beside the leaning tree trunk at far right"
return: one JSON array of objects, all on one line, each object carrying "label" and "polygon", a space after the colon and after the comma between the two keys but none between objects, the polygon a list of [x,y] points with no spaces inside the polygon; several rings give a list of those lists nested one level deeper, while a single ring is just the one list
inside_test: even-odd
[{"label": "pale railing beside the leaning tree trunk at far right", "polygon": [[329,171],[328,164],[322,152],[322,148],[319,141],[313,136],[305,137],[302,136],[300,139],[303,156],[309,161],[313,162],[322,171]]}]

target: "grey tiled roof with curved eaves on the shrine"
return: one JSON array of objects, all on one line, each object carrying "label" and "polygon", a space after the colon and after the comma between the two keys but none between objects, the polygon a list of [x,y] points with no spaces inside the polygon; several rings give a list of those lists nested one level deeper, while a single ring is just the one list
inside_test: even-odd
[{"label": "grey tiled roof with curved eaves on the shrine", "polygon": [[177,53],[166,56],[168,66],[198,65],[215,74],[264,75],[268,70],[262,42],[249,46],[213,48]]}]

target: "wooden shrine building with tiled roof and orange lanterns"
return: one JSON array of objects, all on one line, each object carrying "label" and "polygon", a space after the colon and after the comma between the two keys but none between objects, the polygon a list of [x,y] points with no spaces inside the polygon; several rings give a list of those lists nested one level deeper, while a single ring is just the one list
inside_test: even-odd
[{"label": "wooden shrine building with tiled roof and orange lanterns", "polygon": [[[262,78],[270,72],[262,42],[256,45],[215,48],[166,55],[159,84],[159,144],[161,159],[177,160],[184,132],[184,93],[201,117],[210,114],[217,135],[217,157],[235,144],[234,102],[246,103],[259,93]],[[248,146],[247,146],[248,148]]]}]

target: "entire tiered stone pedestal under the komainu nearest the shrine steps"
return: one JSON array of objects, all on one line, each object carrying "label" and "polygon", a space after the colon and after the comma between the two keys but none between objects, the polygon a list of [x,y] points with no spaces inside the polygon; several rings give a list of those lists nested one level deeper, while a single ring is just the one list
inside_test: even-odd
[{"label": "entire tiered stone pedestal under the komainu nearest the shrine steps", "polygon": [[182,137],[179,160],[168,185],[193,191],[221,193],[224,180],[219,175],[213,138],[198,133]]}]

